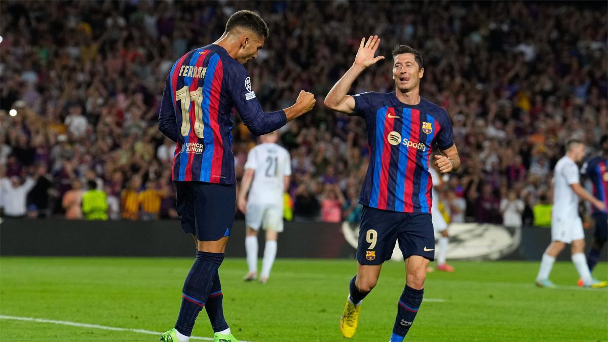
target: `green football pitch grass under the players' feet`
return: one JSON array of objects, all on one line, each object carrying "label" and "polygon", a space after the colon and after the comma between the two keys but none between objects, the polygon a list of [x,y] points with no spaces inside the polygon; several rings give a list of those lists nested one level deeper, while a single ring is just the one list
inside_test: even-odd
[{"label": "green football pitch grass under the players' feet", "polygon": [[[193,259],[2,257],[0,340],[156,341],[157,335],[131,329],[164,332],[173,327]],[[424,301],[407,340],[608,340],[608,290],[576,287],[570,262],[556,263],[551,279],[561,286],[553,289],[534,286],[537,262],[453,265],[454,273],[427,276]],[[345,341],[339,319],[355,269],[354,260],[278,259],[263,285],[243,282],[243,259],[224,260],[224,312],[232,332],[258,342]],[[600,279],[607,273],[606,263],[594,271]],[[389,340],[404,281],[403,263],[384,264],[352,341]],[[202,310],[193,336],[210,340],[212,334]]]}]

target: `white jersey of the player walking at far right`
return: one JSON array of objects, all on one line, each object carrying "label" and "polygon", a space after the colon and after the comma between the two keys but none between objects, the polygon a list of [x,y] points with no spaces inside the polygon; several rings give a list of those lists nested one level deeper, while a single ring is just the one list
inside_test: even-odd
[{"label": "white jersey of the player walking at far right", "polygon": [[576,163],[563,156],[555,165],[553,175],[553,217],[578,217],[578,196],[571,184],[579,183],[579,170]]}]

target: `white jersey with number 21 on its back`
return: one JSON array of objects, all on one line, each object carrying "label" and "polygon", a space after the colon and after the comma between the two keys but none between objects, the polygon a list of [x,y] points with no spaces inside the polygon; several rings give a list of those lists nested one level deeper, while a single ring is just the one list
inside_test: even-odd
[{"label": "white jersey with number 21 on its back", "polygon": [[291,175],[289,152],[277,144],[260,144],[247,155],[245,169],[254,170],[248,202],[283,208],[285,176]]}]

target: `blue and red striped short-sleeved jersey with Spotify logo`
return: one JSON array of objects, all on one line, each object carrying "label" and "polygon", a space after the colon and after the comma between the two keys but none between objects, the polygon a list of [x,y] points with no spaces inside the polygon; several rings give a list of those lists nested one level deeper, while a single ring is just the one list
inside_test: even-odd
[{"label": "blue and red striped short-sleeved jersey with Spotify logo", "polygon": [[447,112],[423,97],[418,105],[406,105],[395,92],[364,92],[353,98],[353,115],[365,119],[370,144],[359,203],[381,210],[430,213],[432,147],[446,150],[454,145]]}]

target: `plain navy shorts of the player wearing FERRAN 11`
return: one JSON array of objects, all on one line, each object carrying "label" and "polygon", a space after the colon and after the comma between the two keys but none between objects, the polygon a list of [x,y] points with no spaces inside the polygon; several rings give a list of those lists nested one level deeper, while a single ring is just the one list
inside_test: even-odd
[{"label": "plain navy shorts of the player wearing FERRAN 11", "polygon": [[176,209],[186,234],[201,241],[230,235],[236,209],[236,184],[175,182]]}]

